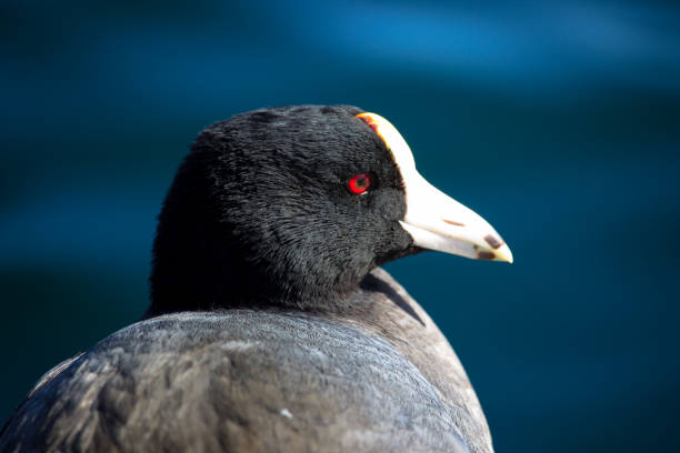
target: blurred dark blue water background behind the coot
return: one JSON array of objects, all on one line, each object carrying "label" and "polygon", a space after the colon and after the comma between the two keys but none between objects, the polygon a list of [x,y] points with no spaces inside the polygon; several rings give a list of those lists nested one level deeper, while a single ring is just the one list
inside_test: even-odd
[{"label": "blurred dark blue water background behind the coot", "polygon": [[464,363],[498,452],[680,451],[680,7],[0,3],[0,419],[134,322],[196,134],[352,103],[513,265],[388,265]]}]

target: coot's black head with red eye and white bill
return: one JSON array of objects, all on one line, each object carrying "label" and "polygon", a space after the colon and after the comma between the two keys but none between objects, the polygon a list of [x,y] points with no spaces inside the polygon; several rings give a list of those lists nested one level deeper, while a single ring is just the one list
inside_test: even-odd
[{"label": "coot's black head with red eye and white bill", "polygon": [[163,203],[148,315],[341,310],[377,265],[422,249],[511,261],[430,185],[383,118],[348,105],[257,110],[203,130]]}]

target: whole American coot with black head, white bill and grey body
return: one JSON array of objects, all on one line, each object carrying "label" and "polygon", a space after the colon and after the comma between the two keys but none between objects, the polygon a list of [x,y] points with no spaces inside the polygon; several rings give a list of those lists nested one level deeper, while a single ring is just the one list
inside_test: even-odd
[{"label": "whole American coot with black head, white bill and grey body", "polygon": [[491,452],[451,346],[378,268],[424,249],[512,261],[386,119],[218,122],[164,201],[144,319],[48,372],[0,450]]}]

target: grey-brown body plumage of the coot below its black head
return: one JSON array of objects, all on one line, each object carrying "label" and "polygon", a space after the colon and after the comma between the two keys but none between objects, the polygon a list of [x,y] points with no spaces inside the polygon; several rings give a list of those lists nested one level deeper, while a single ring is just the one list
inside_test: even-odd
[{"label": "grey-brown body plumage of the coot below its black head", "polygon": [[48,373],[0,451],[492,452],[451,346],[374,270],[352,311],[183,312]]}]

